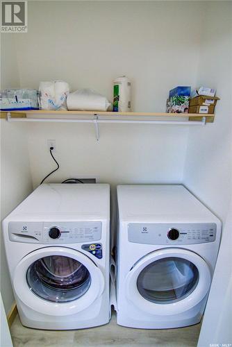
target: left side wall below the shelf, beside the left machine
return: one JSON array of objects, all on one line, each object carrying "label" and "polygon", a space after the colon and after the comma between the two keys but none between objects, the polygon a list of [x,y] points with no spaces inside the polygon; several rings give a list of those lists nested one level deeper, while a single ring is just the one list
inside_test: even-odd
[{"label": "left side wall below the shelf, beside the left machine", "polygon": [[[27,128],[1,120],[1,220],[33,190],[29,165]],[[14,297],[1,234],[1,296],[6,314]]]}]

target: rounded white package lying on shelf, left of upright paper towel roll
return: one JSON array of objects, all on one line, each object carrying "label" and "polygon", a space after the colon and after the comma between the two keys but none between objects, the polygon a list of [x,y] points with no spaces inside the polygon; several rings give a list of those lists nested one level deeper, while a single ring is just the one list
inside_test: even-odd
[{"label": "rounded white package lying on shelf, left of upright paper towel roll", "polygon": [[107,111],[111,106],[105,96],[91,89],[76,90],[67,96],[68,110]]}]

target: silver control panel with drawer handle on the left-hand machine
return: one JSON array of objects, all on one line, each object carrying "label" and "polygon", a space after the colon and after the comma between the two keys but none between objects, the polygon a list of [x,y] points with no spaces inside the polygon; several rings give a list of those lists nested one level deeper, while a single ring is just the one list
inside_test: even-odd
[{"label": "silver control panel with drawer handle on the left-hand machine", "polygon": [[11,221],[8,224],[10,241],[29,244],[74,244],[99,241],[101,227],[101,221]]}]

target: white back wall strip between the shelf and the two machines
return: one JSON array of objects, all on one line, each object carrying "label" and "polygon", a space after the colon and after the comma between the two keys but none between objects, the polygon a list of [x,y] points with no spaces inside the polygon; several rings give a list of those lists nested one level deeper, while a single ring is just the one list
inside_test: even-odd
[{"label": "white back wall strip between the shelf and the two machines", "polygon": [[94,126],[31,124],[29,153],[34,186],[56,168],[47,139],[56,139],[60,169],[47,182],[70,177],[97,177],[100,183],[180,182],[186,148],[186,129],[172,126]]}]

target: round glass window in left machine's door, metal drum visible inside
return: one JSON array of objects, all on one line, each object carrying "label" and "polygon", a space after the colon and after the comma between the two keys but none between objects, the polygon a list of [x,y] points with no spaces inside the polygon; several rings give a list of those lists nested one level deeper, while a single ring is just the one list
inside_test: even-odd
[{"label": "round glass window in left machine's door, metal drum visible inside", "polygon": [[28,267],[26,280],[34,294],[44,300],[67,303],[83,296],[91,284],[88,269],[63,255],[41,257]]}]

